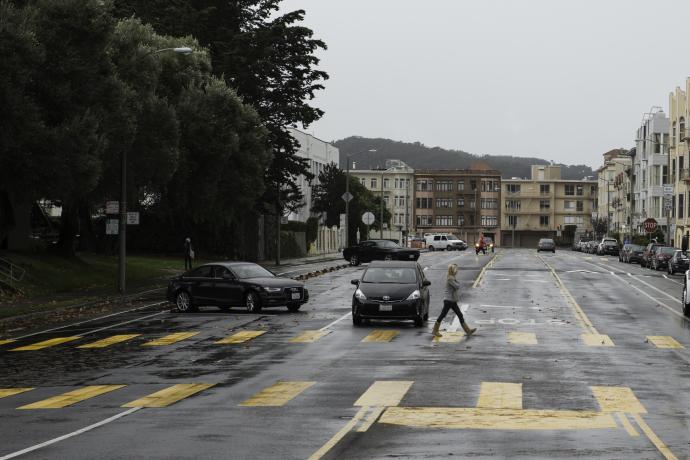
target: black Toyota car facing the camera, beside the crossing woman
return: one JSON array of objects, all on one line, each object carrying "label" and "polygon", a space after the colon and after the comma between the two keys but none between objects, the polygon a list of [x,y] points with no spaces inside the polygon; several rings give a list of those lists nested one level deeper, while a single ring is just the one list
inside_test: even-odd
[{"label": "black Toyota car facing the camera, beside the crossing woman", "polygon": [[429,319],[429,285],[416,262],[373,262],[352,296],[352,323],[363,319],[411,319],[422,327]]}]

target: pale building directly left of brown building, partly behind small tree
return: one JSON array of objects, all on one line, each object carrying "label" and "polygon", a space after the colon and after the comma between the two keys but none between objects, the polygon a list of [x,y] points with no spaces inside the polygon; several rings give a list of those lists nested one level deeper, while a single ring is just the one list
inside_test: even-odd
[{"label": "pale building directly left of brown building, partly behind small tree", "polygon": [[[384,206],[391,213],[391,225],[384,224],[383,238],[403,241],[404,236],[412,231],[414,169],[400,160],[386,160],[386,167],[382,169],[356,168],[357,163],[353,162],[350,175],[358,178],[372,193],[383,194]],[[378,209],[372,209],[371,212],[378,218]],[[378,238],[380,234],[370,236]]]}]

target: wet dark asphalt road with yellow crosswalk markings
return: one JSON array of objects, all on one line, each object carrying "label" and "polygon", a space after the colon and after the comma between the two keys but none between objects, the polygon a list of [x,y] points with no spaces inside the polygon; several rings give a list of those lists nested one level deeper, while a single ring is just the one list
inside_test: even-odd
[{"label": "wet dark asphalt road with yellow crosswalk markings", "polygon": [[308,280],[297,314],[154,309],[0,345],[0,459],[690,458],[680,275],[570,251],[425,253],[432,318],[450,262],[470,339],[452,314],[440,342],[431,322],[353,327],[358,267]]}]

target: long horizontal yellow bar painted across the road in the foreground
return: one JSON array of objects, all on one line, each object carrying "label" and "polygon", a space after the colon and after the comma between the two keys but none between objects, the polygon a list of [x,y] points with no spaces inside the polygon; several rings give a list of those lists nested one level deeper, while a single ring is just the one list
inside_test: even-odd
[{"label": "long horizontal yellow bar painted across the road in the foreground", "polygon": [[460,407],[392,407],[379,423],[474,430],[592,430],[618,428],[612,414],[594,411]]}]

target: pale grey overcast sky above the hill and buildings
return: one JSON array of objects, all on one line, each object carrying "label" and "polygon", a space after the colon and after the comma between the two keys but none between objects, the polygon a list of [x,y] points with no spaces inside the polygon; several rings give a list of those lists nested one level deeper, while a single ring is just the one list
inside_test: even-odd
[{"label": "pale grey overcast sky above the hill and buildings", "polygon": [[690,76],[687,0],[284,0],[328,45],[307,131],[598,166]]}]

